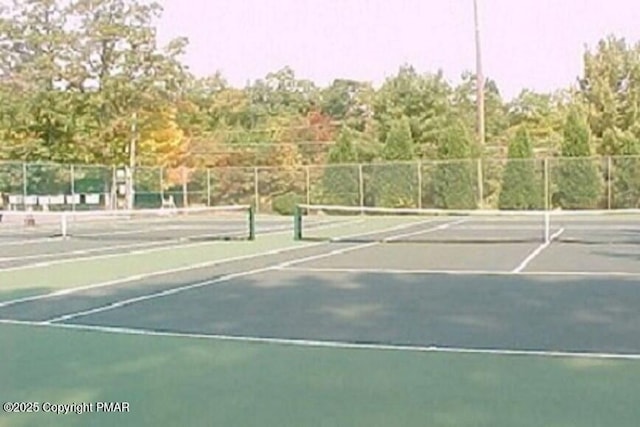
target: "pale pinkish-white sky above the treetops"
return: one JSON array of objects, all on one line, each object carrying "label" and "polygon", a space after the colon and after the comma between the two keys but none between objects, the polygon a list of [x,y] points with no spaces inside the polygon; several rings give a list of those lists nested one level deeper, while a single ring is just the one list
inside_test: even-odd
[{"label": "pale pinkish-white sky above the treetops", "polygon": [[[381,84],[403,64],[442,70],[453,83],[475,69],[473,0],[159,0],[160,42],[184,36],[197,76],[234,86],[290,66],[325,86]],[[587,47],[614,34],[640,41],[637,0],[478,0],[483,68],[507,99],[550,92],[581,74]]]}]

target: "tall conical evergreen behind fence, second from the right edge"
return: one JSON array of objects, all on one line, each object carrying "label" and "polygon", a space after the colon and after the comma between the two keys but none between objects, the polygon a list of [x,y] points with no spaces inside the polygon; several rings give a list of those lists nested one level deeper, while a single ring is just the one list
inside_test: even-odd
[{"label": "tall conical evergreen behind fence, second from the right edge", "polygon": [[573,109],[564,127],[562,158],[558,166],[557,203],[564,209],[591,209],[601,199],[602,178],[589,146],[589,128]]}]

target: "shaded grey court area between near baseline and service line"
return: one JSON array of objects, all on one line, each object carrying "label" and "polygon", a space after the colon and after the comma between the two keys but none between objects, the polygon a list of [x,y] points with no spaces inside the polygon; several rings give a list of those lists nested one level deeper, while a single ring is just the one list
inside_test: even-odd
[{"label": "shaded grey court area between near baseline and service line", "polygon": [[66,321],[207,335],[640,354],[636,279],[271,271],[144,298],[197,283],[192,279],[176,275],[19,304],[0,309],[0,318],[48,320],[143,296]]}]

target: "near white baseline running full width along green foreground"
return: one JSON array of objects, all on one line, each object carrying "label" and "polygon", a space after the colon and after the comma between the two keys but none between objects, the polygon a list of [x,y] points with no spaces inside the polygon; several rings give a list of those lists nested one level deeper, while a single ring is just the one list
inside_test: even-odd
[{"label": "near white baseline running full width along green foreground", "polygon": [[40,328],[53,328],[62,330],[90,331],[112,335],[136,335],[144,337],[162,337],[176,339],[197,339],[223,342],[237,342],[244,344],[277,344],[291,347],[303,348],[328,348],[334,350],[373,350],[373,351],[394,351],[413,353],[441,353],[441,354],[475,354],[487,356],[503,357],[538,357],[538,358],[560,358],[560,359],[592,359],[592,360],[640,360],[640,354],[624,353],[588,353],[570,351],[535,351],[535,350],[510,350],[510,349],[476,349],[461,347],[438,347],[438,346],[407,346],[393,344],[360,344],[344,341],[322,341],[304,340],[288,338],[263,338],[239,335],[216,335],[216,334],[195,334],[178,332],[161,332],[138,328],[121,328],[113,326],[93,326],[80,324],[46,323],[23,320],[0,319],[0,324],[14,326],[30,326]]}]

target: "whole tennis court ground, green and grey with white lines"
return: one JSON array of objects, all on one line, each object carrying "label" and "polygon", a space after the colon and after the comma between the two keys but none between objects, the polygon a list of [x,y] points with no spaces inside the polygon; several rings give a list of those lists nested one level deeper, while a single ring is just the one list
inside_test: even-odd
[{"label": "whole tennis court ground, green and grey with white lines", "polygon": [[0,374],[132,401],[127,425],[636,424],[635,214],[319,210],[246,241],[0,242]]}]

